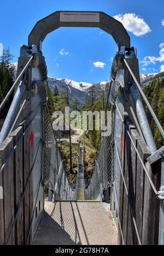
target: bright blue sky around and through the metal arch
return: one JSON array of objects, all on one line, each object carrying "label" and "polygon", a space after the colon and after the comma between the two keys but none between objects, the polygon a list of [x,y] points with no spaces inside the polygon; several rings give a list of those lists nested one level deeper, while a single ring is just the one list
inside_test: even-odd
[{"label": "bright blue sky around and through the metal arch", "polygon": [[[102,11],[121,20],[137,47],[140,74],[164,71],[163,0],[28,0],[1,1],[0,43],[17,62],[21,44],[39,19],[57,10]],[[1,47],[1,45],[0,45]],[[50,76],[96,83],[110,77],[116,44],[98,28],[62,27],[43,42]]]}]

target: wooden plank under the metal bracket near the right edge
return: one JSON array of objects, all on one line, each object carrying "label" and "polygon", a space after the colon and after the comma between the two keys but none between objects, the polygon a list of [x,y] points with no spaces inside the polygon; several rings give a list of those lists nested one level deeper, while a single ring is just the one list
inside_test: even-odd
[{"label": "wooden plank under the metal bracket near the right edge", "polygon": [[[161,180],[161,160],[157,160],[157,162],[151,166],[149,163],[146,163],[146,166],[154,186],[159,188]],[[160,200],[156,198],[147,176],[145,176],[144,189],[142,244],[158,244]]]}]

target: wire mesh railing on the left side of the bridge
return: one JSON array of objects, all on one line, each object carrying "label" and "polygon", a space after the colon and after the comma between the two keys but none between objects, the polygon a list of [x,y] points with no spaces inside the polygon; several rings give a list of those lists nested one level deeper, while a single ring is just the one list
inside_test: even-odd
[{"label": "wire mesh railing on the left side of the bridge", "polygon": [[65,170],[65,159],[57,146],[56,134],[52,127],[48,105],[44,109],[44,184],[56,199],[75,200],[77,186],[69,183]]}]

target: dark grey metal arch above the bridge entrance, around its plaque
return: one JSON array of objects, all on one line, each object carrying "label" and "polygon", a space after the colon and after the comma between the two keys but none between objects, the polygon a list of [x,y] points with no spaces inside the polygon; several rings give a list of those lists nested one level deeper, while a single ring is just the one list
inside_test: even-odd
[{"label": "dark grey metal arch above the bridge entrance, around its plaque", "polygon": [[[99,22],[93,21],[60,21],[61,13],[95,13],[99,14]],[[36,44],[40,49],[40,42],[44,41],[46,35],[58,29],[59,27],[99,27],[112,35],[114,41],[120,48],[125,46],[126,49],[130,48],[130,36],[127,34],[125,27],[120,21],[115,20],[111,16],[103,12],[64,12],[57,11],[45,18],[39,20],[33,27],[30,35],[28,36],[28,46],[31,47]]]}]

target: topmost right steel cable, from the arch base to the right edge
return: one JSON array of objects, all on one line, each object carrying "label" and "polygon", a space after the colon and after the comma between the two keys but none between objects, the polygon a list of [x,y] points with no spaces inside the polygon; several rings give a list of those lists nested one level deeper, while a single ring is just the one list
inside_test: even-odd
[{"label": "topmost right steel cable, from the arch base to the right edge", "polygon": [[160,133],[161,133],[161,135],[162,135],[162,137],[164,138],[164,131],[163,131],[163,128],[162,128],[162,126],[161,126],[159,120],[157,119],[156,114],[154,113],[153,108],[151,108],[151,105],[150,105],[150,103],[149,103],[147,97],[145,96],[145,94],[144,94],[142,88],[140,87],[139,82],[137,81],[136,76],[134,76],[133,71],[131,70],[130,66],[128,65],[126,59],[124,59],[124,62],[125,62],[125,64],[126,64],[128,70],[130,71],[130,74],[131,74],[131,76],[133,77],[133,80],[134,80],[135,84],[137,85],[137,88],[138,88],[140,94],[142,95],[142,97],[143,97],[145,103],[147,104],[147,106],[148,106],[148,108],[149,108],[149,110],[150,110],[150,113],[151,113],[151,115],[153,116],[154,121],[155,121],[155,123],[156,123],[156,125],[157,125],[157,127],[158,127],[158,129],[159,129],[159,131],[160,131]]}]

